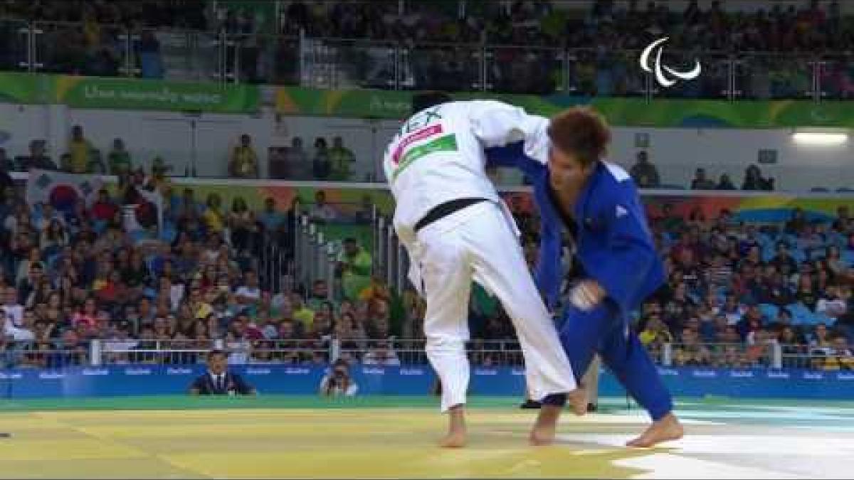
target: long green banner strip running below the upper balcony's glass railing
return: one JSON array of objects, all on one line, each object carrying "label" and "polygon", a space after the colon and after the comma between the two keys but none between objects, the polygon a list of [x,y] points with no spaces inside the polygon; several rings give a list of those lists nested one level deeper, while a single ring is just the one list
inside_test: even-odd
[{"label": "long green banner strip running below the upper balcony's glass railing", "polygon": [[[410,112],[412,91],[327,91],[276,87],[280,114],[343,118],[403,119]],[[461,92],[453,97],[511,102],[530,113],[550,116],[564,108],[589,105],[614,126],[785,128],[854,126],[851,102],[811,100],[665,99],[502,95]],[[63,103],[73,108],[202,111],[247,114],[260,109],[258,85],[176,82],[153,79],[107,79],[44,73],[0,73],[0,102]]]}]

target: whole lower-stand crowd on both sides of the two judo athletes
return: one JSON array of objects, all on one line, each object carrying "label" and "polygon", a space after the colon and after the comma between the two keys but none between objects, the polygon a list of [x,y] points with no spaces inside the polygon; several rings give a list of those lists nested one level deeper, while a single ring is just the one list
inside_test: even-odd
[{"label": "whole lower-stand crowd on both sides of the two judo athletes", "polygon": [[[195,362],[219,340],[232,363],[324,362],[330,339],[345,360],[398,365],[418,358],[424,302],[391,289],[372,272],[370,247],[343,242],[336,280],[272,290],[260,248],[278,242],[292,258],[294,212],[268,199],[253,212],[216,193],[202,201],[155,173],[133,176],[124,190],[103,190],[90,208],[28,205],[0,176],[0,292],[6,365],[61,366],[87,361],[88,341],[104,340],[108,362]],[[119,214],[134,188],[167,195],[166,241],[135,241]],[[515,199],[531,266],[538,220]],[[335,222],[317,192],[306,210]],[[676,214],[650,209],[668,282],[636,315],[635,328],[657,360],[671,345],[673,365],[770,366],[772,345],[783,366],[852,369],[854,219],[840,208],[833,222],[796,209],[785,225],[757,225],[728,211]],[[567,245],[569,248],[569,245]],[[297,261],[299,261],[297,259]],[[330,296],[330,290],[334,295]],[[475,285],[470,324],[475,359],[518,363],[514,332],[500,303]],[[506,341],[496,348],[489,341]],[[157,354],[155,348],[177,349]],[[188,352],[181,354],[180,350]]]}]

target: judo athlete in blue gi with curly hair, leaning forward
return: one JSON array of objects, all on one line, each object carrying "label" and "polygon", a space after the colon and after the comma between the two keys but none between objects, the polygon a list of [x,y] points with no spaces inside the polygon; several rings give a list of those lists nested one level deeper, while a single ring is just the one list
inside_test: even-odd
[{"label": "judo athlete in blue gi with curly hair, leaning forward", "polygon": [[[493,165],[520,167],[534,186],[541,214],[540,256],[535,282],[553,309],[563,283],[562,234],[575,243],[574,273],[564,308],[560,341],[581,383],[599,354],[652,425],[630,447],[651,447],[681,438],[670,393],[637,334],[629,311],[640,307],[664,282],[635,184],[623,168],[602,161],[611,134],[587,108],[555,116],[548,142],[532,158],[521,145],[488,151]],[[583,385],[582,385],[583,387]],[[564,401],[559,395],[543,403]]]}]

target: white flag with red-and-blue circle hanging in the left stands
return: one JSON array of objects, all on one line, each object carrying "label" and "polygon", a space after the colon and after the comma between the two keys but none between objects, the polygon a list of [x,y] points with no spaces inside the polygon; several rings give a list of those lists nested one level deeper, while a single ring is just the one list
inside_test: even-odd
[{"label": "white flag with red-and-blue circle hanging in the left stands", "polygon": [[58,210],[68,210],[82,198],[86,206],[91,206],[102,184],[97,175],[30,170],[30,178],[26,182],[26,202],[30,205],[50,202]]}]

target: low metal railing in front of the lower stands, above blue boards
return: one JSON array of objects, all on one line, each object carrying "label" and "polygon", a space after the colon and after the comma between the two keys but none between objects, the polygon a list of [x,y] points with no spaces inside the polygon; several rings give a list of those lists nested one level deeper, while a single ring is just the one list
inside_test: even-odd
[{"label": "low metal railing in front of the lower stands, above blue boards", "polygon": [[[225,350],[232,365],[327,364],[344,359],[369,366],[427,366],[424,339],[271,338],[261,340],[110,339],[78,342],[3,342],[0,368],[61,370],[69,366],[196,365],[213,348]],[[777,342],[661,343],[647,346],[659,366],[717,368],[798,368],[854,371],[854,356],[832,348],[808,348]],[[524,368],[516,340],[472,340],[466,343],[471,366]]]}]

